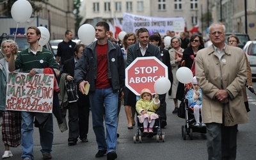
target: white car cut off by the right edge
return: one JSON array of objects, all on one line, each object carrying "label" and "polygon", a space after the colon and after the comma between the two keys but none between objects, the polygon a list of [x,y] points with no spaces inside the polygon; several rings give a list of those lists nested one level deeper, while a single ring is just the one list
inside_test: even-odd
[{"label": "white car cut off by the right edge", "polygon": [[245,52],[250,63],[252,77],[256,78],[256,40],[248,41],[244,45],[243,51]]}]

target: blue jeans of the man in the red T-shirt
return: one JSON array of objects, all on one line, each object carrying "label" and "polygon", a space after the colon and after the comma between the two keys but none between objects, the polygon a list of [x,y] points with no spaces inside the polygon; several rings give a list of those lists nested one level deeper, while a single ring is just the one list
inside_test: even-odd
[{"label": "blue jeans of the man in the red T-shirt", "polygon": [[[95,92],[90,93],[89,98],[92,109],[93,131],[98,149],[107,150],[107,153],[116,152],[118,93],[114,92],[112,88],[96,89]],[[106,136],[103,115],[105,115]]]}]

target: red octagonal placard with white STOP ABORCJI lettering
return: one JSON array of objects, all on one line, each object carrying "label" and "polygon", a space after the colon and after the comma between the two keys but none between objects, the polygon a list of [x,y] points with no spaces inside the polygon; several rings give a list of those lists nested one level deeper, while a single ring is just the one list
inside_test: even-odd
[{"label": "red octagonal placard with white STOP ABORCJI lettering", "polygon": [[168,68],[155,56],[138,57],[125,68],[125,86],[136,95],[143,88],[155,93],[154,84],[160,77],[168,78]]}]

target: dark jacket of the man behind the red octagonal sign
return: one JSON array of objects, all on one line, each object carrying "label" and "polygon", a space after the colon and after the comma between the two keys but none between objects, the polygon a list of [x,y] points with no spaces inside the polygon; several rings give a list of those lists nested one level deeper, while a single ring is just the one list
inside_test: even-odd
[{"label": "dark jacket of the man behind the red octagonal sign", "polygon": [[[162,59],[160,55],[159,47],[156,47],[156,45],[152,45],[152,44],[148,44],[148,49],[144,55],[144,57],[148,57],[148,56],[155,56],[159,60]],[[136,44],[132,44],[128,47],[127,60],[126,60],[127,66],[130,65],[132,61],[134,61],[137,57],[143,57],[140,51],[139,42]]]}]

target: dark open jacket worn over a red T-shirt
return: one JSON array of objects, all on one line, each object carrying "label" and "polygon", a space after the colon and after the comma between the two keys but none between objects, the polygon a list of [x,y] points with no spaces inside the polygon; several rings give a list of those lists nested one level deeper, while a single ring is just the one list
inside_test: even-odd
[{"label": "dark open jacket worn over a red T-shirt", "polygon": [[[82,81],[90,83],[90,92],[95,92],[97,79],[97,41],[84,48],[83,55],[75,68],[75,82],[79,85]],[[113,90],[125,86],[124,57],[120,47],[108,40],[108,79]]]}]

